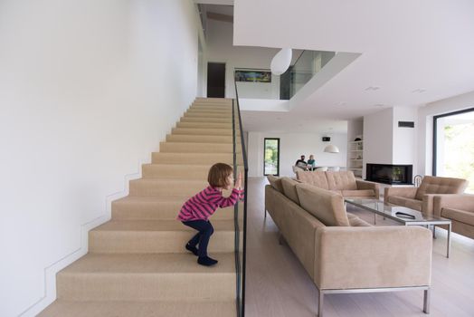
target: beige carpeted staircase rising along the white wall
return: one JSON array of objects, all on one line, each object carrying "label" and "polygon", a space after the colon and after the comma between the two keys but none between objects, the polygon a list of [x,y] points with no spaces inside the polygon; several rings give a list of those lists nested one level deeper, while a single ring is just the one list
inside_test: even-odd
[{"label": "beige carpeted staircase rising along the white wall", "polygon": [[57,300],[39,316],[236,316],[233,207],[211,219],[213,267],[196,264],[184,248],[195,231],[175,220],[232,151],[232,100],[196,99],[112,202],[111,220],[90,231],[89,253],[57,274]]}]

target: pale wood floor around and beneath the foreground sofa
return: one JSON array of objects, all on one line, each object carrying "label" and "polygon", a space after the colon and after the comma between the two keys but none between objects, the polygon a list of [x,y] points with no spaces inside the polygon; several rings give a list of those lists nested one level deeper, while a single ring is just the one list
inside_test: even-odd
[{"label": "pale wood floor around and beneath the foreground sofa", "polygon": [[[250,178],[247,231],[247,317],[316,316],[318,291],[288,245],[279,245],[278,229],[264,220],[266,178]],[[370,212],[351,212],[373,222]],[[378,226],[384,224],[377,217]],[[428,316],[422,312],[422,291],[325,295],[324,316]],[[451,235],[446,258],[446,233],[433,242],[430,316],[474,316],[474,240]]]}]

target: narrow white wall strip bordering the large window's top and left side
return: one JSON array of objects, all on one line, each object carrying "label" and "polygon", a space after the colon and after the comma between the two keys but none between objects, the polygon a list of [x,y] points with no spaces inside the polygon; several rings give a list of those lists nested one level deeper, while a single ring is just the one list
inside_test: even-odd
[{"label": "narrow white wall strip bordering the large window's top and left side", "polygon": [[417,174],[432,172],[432,128],[435,115],[474,107],[474,91],[426,104],[418,110],[418,168]]}]

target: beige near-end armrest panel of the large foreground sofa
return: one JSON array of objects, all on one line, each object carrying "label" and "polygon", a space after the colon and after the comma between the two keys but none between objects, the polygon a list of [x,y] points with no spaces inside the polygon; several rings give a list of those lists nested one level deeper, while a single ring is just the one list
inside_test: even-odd
[{"label": "beige near-end armrest panel of the large foreground sofa", "polygon": [[320,290],[431,284],[431,231],[419,226],[324,227],[316,231]]}]

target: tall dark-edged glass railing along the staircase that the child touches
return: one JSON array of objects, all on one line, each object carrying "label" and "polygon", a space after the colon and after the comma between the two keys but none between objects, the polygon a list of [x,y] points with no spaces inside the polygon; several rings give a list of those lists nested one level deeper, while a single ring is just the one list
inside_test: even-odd
[{"label": "tall dark-edged glass railing along the staircase that the child touches", "polygon": [[232,101],[232,126],[233,126],[233,173],[234,179],[242,173],[244,196],[234,207],[235,226],[235,271],[236,271],[236,304],[237,316],[245,315],[245,250],[247,232],[247,152],[243,139],[242,118],[239,106],[239,97],[236,88],[236,99]]}]

